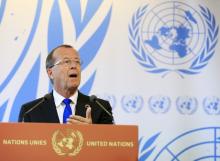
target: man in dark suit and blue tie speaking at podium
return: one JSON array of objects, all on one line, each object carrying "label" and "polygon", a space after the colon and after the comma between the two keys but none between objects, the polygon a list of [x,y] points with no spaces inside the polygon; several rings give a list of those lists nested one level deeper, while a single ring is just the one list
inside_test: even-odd
[{"label": "man in dark suit and blue tie speaking at podium", "polygon": [[19,122],[69,124],[113,124],[108,101],[98,99],[104,111],[79,90],[81,63],[78,52],[70,45],[53,49],[46,59],[47,74],[53,91],[42,98],[22,105]]}]

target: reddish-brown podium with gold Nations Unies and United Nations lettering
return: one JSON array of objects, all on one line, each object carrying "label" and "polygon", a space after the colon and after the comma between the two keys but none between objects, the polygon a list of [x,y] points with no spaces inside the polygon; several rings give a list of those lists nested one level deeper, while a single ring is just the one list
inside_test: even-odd
[{"label": "reddish-brown podium with gold Nations Unies and United Nations lettering", "polygon": [[138,161],[138,128],[0,123],[0,154],[5,161]]}]

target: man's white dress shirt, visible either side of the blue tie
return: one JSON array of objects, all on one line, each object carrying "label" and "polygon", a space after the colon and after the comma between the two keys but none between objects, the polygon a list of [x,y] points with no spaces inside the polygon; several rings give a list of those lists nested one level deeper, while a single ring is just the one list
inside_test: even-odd
[{"label": "man's white dress shirt, visible either side of the blue tie", "polygon": [[[54,102],[56,105],[56,110],[57,110],[57,114],[58,114],[60,123],[63,123],[63,113],[64,113],[64,109],[65,109],[65,104],[63,103],[63,100],[65,98],[63,96],[61,96],[59,93],[57,93],[55,89],[53,89],[53,97],[54,97]],[[76,91],[74,93],[74,95],[72,95],[69,98],[72,100],[72,102],[70,103],[70,107],[71,107],[73,115],[75,114],[75,107],[76,107],[77,98],[78,98],[78,91]]]}]

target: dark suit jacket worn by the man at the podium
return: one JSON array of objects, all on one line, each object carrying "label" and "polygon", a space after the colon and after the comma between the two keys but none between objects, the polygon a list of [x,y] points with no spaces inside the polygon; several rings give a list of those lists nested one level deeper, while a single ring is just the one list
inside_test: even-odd
[{"label": "dark suit jacket worn by the man at the podium", "polygon": [[[39,98],[37,100],[28,102],[22,105],[19,122],[44,122],[44,123],[59,123],[59,118],[54,102],[53,93],[50,93],[46,100]],[[36,108],[26,113],[29,109],[33,108],[36,104],[40,103]],[[112,108],[108,101],[98,99],[98,101],[112,113]],[[109,116],[103,109],[101,109],[95,102],[90,102],[89,96],[86,96],[79,92],[76,103],[75,115],[86,116],[85,105],[89,104],[92,108],[92,122],[94,124],[112,124],[113,117]]]}]

